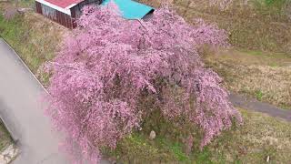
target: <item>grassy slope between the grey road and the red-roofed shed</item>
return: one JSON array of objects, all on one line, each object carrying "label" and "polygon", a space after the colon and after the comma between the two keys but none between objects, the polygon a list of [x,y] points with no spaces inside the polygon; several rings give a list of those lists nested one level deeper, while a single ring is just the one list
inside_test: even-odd
[{"label": "grassy slope between the grey road and the red-roofed shed", "polygon": [[36,73],[39,66],[54,56],[65,28],[35,13],[15,15],[13,19],[5,20],[1,15],[5,5],[10,4],[0,4],[0,36],[14,47],[28,67]]}]

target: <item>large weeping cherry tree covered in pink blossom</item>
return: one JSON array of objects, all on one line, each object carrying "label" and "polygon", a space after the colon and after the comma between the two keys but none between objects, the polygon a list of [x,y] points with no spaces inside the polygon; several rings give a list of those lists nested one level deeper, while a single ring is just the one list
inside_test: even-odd
[{"label": "large weeping cherry tree covered in pink blossom", "polygon": [[[224,30],[201,20],[190,26],[167,7],[146,20],[125,20],[114,4],[83,12],[46,64],[52,73],[46,113],[65,132],[65,149],[76,163],[98,162],[102,148],[115,149],[120,138],[140,128],[151,112],[137,108],[141,95],[156,95],[169,120],[186,117],[202,128],[201,148],[230,128],[233,118],[242,121],[222,79],[204,68],[197,51],[205,44],[227,46]],[[196,97],[195,106],[190,97]]]}]

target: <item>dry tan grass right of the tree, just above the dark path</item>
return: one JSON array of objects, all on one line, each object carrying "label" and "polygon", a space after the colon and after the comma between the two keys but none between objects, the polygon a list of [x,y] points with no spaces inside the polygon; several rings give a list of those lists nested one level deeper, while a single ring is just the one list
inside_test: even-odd
[{"label": "dry tan grass right of the tree, just above the dark path", "polygon": [[291,56],[228,51],[206,56],[206,64],[224,77],[229,90],[291,107]]}]

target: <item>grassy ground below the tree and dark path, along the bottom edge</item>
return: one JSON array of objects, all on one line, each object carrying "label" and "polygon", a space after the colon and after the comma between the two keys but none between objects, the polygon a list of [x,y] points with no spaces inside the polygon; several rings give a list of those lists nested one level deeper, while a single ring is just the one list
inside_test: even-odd
[{"label": "grassy ground below the tree and dark path, along the bottom edge", "polygon": [[[260,113],[240,109],[245,123],[224,132],[203,151],[187,156],[183,144],[157,133],[153,141],[141,133],[123,139],[112,154],[124,163],[288,163],[291,124]],[[197,143],[196,143],[197,144]]]}]

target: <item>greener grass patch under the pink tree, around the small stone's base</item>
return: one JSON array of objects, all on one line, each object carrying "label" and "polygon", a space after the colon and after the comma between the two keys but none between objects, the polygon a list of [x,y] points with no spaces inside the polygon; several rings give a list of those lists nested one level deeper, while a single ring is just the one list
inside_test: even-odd
[{"label": "greener grass patch under the pink tree, around the small stone's base", "polygon": [[[151,140],[145,134],[135,132],[129,137],[120,141],[115,151],[105,151],[110,157],[114,156],[117,161],[124,163],[149,163],[156,162],[183,162],[191,163],[192,159],[183,151],[183,144],[164,137],[157,137]],[[203,151],[196,154],[197,161],[211,161],[208,152]]]}]

